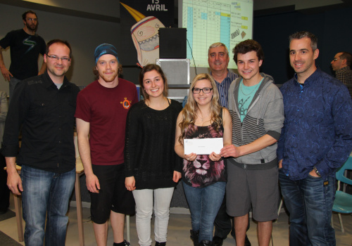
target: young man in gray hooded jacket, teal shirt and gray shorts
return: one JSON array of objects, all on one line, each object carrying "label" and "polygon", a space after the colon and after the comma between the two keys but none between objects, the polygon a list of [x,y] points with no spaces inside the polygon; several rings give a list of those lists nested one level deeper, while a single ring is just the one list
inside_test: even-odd
[{"label": "young man in gray hooded jacket, teal shirt and gray shorts", "polygon": [[270,75],[259,72],[264,53],[257,41],[242,41],[233,52],[241,77],[229,90],[232,145],[220,153],[230,157],[227,214],[234,216],[237,245],[244,245],[252,205],[259,245],[269,245],[279,200],[276,150],[284,123],[282,94]]}]

